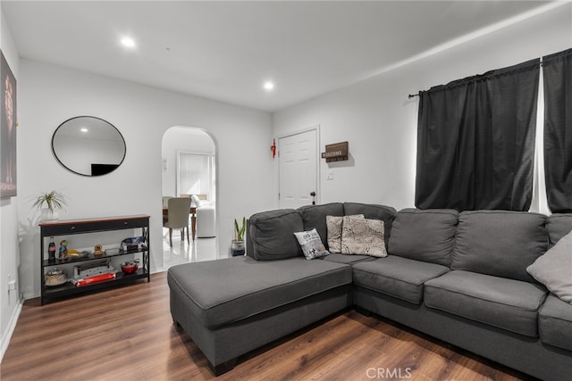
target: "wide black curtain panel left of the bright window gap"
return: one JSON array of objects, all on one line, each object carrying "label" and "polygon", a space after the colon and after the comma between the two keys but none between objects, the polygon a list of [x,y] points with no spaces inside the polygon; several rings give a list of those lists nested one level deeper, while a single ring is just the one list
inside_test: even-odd
[{"label": "wide black curtain panel left of the bright window gap", "polygon": [[416,207],[527,211],[540,60],[419,94]]}]

